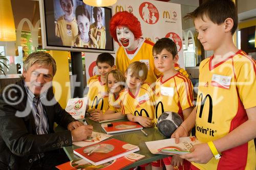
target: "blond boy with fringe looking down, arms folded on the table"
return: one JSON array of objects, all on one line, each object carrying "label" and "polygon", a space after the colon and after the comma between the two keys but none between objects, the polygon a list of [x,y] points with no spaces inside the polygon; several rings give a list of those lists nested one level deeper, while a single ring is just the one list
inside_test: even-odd
[{"label": "blond boy with fringe looking down, arms folded on the table", "polygon": [[122,113],[145,128],[153,126],[155,101],[154,89],[145,82],[147,72],[145,63],[131,63],[125,71],[127,88],[119,93]]}]

